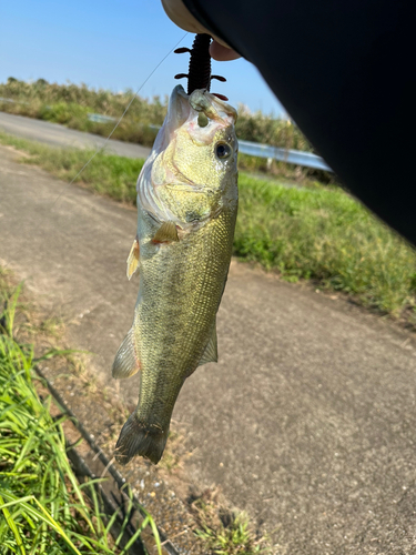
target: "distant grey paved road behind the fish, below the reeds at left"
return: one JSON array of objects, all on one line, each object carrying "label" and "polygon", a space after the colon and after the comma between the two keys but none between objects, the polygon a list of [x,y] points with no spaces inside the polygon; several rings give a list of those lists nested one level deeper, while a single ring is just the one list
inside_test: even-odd
[{"label": "distant grey paved road behind the fish, below the reeds at left", "polygon": [[[0,112],[0,130],[23,139],[40,141],[51,147],[97,149],[103,147],[105,143],[103,137],[82,133],[81,131],[68,129],[58,123],[50,123],[49,121],[33,120],[4,112]],[[105,144],[105,150],[128,158],[148,158],[150,152],[148,147],[113,141],[111,139]]]}]

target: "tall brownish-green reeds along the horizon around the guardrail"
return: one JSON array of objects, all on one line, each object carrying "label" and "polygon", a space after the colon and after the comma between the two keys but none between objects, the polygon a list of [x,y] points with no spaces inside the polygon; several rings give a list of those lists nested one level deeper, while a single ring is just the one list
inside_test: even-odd
[{"label": "tall brownish-green reeds along the horizon around the guardrail", "polygon": [[[61,123],[71,129],[108,137],[133,95],[132,90],[114,93],[102,89],[90,89],[85,84],[48,83],[44,79],[27,83],[9,78],[6,83],[0,83],[0,111]],[[151,100],[136,97],[112,138],[151,147],[158,132],[151,125],[163,123],[168,100],[168,97],[163,99],[154,97]],[[110,121],[91,121],[89,114],[92,113],[110,118]],[[244,105],[239,105],[236,133],[239,139],[246,141],[312,151],[310,143],[292,121],[260,111],[252,113]],[[296,180],[311,176],[329,183],[335,180],[334,175],[327,172],[294,168],[284,162],[248,155],[240,157],[240,167],[246,171]]]}]

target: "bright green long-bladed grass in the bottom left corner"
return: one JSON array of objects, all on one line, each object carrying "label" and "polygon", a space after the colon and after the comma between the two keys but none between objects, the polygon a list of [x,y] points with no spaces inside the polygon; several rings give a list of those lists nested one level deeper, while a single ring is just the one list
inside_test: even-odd
[{"label": "bright green long-bladed grass in the bottom left corner", "polygon": [[[63,418],[52,418],[51,398],[42,401],[37,393],[32,347],[13,340],[19,290],[4,284],[0,272],[0,302],[6,306],[0,309],[0,552],[124,554],[129,544],[122,549],[121,538],[110,536],[116,514],[103,518],[98,481],[78,483],[65,454]],[[154,531],[148,515],[136,536],[148,524]],[[159,537],[156,544],[161,553]]]}]

